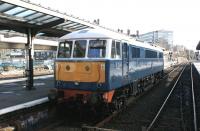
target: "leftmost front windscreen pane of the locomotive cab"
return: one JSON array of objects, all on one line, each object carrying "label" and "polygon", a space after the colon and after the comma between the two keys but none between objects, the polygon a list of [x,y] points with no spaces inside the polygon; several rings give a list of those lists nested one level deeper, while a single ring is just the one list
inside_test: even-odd
[{"label": "leftmost front windscreen pane of the locomotive cab", "polygon": [[59,44],[58,58],[70,58],[72,52],[72,41],[65,41]]}]

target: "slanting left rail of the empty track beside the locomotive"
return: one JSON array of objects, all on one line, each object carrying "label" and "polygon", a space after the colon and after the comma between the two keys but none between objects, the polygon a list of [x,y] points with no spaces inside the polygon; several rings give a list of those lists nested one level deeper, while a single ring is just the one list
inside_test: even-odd
[{"label": "slanting left rail of the empty track beside the locomotive", "polygon": [[180,73],[180,75],[178,76],[178,79],[176,80],[176,82],[175,82],[174,86],[172,87],[170,93],[168,94],[167,98],[165,99],[164,103],[162,104],[161,108],[159,109],[158,113],[156,114],[156,116],[154,117],[154,119],[152,120],[151,124],[148,126],[148,128],[147,128],[146,131],[150,131],[151,128],[153,127],[155,121],[158,119],[158,117],[159,117],[161,111],[163,110],[163,108],[164,108],[165,104],[167,103],[169,97],[171,96],[171,94],[172,94],[174,88],[176,87],[176,84],[178,83],[180,77],[182,76],[182,73],[183,73],[183,71],[185,70],[186,66],[187,66],[187,64],[185,65],[185,67],[184,67],[183,70],[181,71],[181,73]]}]

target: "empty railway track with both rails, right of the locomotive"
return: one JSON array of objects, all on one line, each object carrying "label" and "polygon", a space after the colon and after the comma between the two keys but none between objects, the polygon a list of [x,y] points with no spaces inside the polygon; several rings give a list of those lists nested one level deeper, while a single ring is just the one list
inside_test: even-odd
[{"label": "empty railway track with both rails, right of the locomotive", "polygon": [[195,92],[192,66],[188,65],[180,74],[147,131],[197,131]]}]

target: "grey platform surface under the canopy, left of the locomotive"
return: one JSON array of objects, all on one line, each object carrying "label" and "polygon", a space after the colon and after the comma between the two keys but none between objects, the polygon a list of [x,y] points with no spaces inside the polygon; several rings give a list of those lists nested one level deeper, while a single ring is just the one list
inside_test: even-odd
[{"label": "grey platform surface under the canopy, left of the locomotive", "polygon": [[53,75],[34,77],[34,89],[25,88],[26,78],[0,80],[0,112],[2,109],[47,97],[53,88]]}]

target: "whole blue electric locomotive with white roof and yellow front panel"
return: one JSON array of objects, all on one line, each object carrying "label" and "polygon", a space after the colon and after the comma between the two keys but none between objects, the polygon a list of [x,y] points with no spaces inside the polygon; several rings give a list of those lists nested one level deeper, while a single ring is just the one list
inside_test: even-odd
[{"label": "whole blue electric locomotive with white roof and yellow front panel", "polygon": [[163,51],[148,43],[112,31],[76,31],[60,38],[54,94],[65,102],[119,106],[158,79],[163,65]]}]

